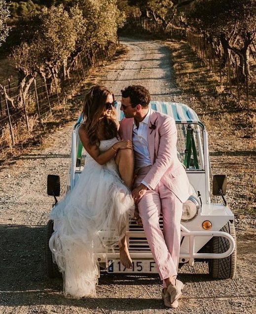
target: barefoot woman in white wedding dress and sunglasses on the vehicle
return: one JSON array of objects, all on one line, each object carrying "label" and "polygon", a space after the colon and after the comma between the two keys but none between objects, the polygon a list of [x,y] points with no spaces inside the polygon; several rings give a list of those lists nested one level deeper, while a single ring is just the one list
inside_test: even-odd
[{"label": "barefoot woman in white wedding dress and sunglasses on the vehicle", "polygon": [[64,279],[67,297],[95,295],[99,278],[95,252],[119,245],[120,260],[132,268],[126,231],[133,215],[132,143],[118,136],[114,95],[104,86],[85,96],[80,140],[87,152],[78,183],[52,209],[54,233],[49,241]]}]

